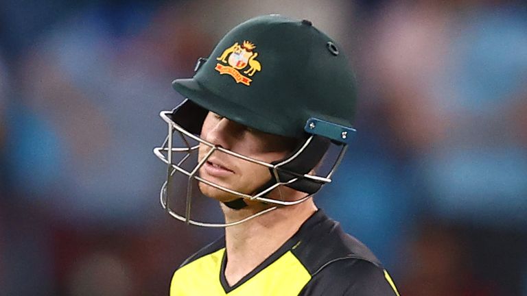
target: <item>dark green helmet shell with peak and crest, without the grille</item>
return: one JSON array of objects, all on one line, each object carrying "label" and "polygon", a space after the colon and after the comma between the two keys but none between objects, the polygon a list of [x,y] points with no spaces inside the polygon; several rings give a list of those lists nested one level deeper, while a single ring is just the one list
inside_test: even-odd
[{"label": "dark green helmet shell with peak and crest, without the grille", "polygon": [[[309,21],[259,16],[226,34],[193,78],[172,86],[202,108],[263,132],[346,143],[355,79],[338,48]],[[310,120],[323,121],[320,130],[316,122],[306,130]]]}]

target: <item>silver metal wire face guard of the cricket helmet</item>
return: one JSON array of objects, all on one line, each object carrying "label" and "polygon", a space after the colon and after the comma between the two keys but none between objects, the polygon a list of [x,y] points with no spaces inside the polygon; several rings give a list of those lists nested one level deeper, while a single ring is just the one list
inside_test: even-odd
[{"label": "silver metal wire face guard of the cricket helmet", "polygon": [[[167,211],[168,214],[170,214],[172,217],[174,217],[174,218],[176,218],[176,219],[178,219],[180,221],[183,221],[183,222],[185,222],[187,224],[198,225],[198,226],[202,226],[202,227],[229,227],[229,226],[237,225],[239,223],[243,223],[243,222],[248,221],[250,219],[253,219],[255,217],[258,217],[258,216],[260,216],[262,214],[265,214],[266,212],[270,212],[272,210],[275,210],[279,206],[292,206],[292,205],[295,205],[295,204],[300,204],[301,202],[306,201],[307,199],[309,199],[309,197],[312,197],[313,194],[307,194],[305,197],[302,197],[301,199],[298,199],[296,201],[285,201],[285,200],[280,200],[280,199],[270,199],[268,197],[265,197],[265,195],[267,193],[270,193],[270,191],[274,190],[275,188],[280,189],[280,186],[291,184],[291,183],[296,182],[297,180],[300,180],[300,179],[313,180],[313,181],[316,181],[316,182],[319,182],[319,183],[322,183],[322,184],[327,184],[327,183],[331,182],[331,176],[333,175],[333,172],[336,170],[336,168],[338,167],[338,165],[342,161],[344,153],[347,150],[347,145],[342,145],[342,148],[340,149],[338,157],[336,158],[335,163],[331,167],[331,170],[329,171],[329,173],[327,174],[326,177],[318,176],[318,175],[309,175],[309,174],[298,174],[298,173],[291,172],[296,177],[292,177],[290,180],[283,181],[283,180],[280,180],[279,170],[281,169],[281,167],[283,167],[283,165],[288,164],[289,162],[291,162],[292,160],[297,158],[306,149],[306,147],[309,145],[309,143],[311,143],[311,141],[313,140],[313,136],[309,136],[309,138],[307,138],[307,140],[302,145],[302,147],[300,149],[298,149],[298,151],[296,151],[296,153],[294,153],[294,155],[290,156],[289,158],[283,160],[282,162],[280,162],[278,164],[270,164],[268,162],[262,162],[260,160],[255,160],[254,158],[249,158],[249,157],[244,156],[242,154],[235,153],[235,152],[233,152],[231,150],[224,149],[222,147],[218,147],[218,146],[214,145],[213,143],[210,143],[210,142],[208,142],[206,140],[203,140],[199,136],[196,136],[196,135],[188,132],[187,130],[185,130],[185,128],[181,127],[180,125],[178,125],[177,123],[172,121],[172,119],[169,118],[169,114],[172,114],[172,112],[173,111],[161,111],[160,112],[159,116],[161,116],[161,119],[163,119],[163,121],[165,121],[167,123],[167,125],[168,125],[168,135],[165,138],[165,141],[163,142],[163,145],[161,147],[154,148],[154,154],[159,159],[161,159],[163,162],[165,162],[165,164],[167,164],[167,180],[163,183],[163,186],[161,186],[160,201],[161,201],[161,206],[163,206],[163,208]],[[174,132],[176,132],[176,131],[178,132],[180,138],[183,140],[183,143],[185,143],[186,147],[173,147],[173,144],[174,144],[174,142],[173,142],[173,140],[174,140],[173,135],[174,135]],[[191,146],[189,144],[189,141],[187,140],[187,138],[195,140],[196,142],[198,142],[198,145]],[[189,158],[189,156],[191,156],[191,153],[197,153],[198,148],[199,148],[200,145],[207,145],[211,149],[207,152],[207,154],[204,156],[204,158],[202,160],[198,160],[198,164],[196,164],[194,169],[192,169],[191,171],[189,171],[187,169],[184,169],[182,167],[183,163],[185,163],[185,161]],[[240,192],[238,192],[236,190],[233,190],[231,188],[226,188],[226,187],[221,186],[219,184],[215,184],[214,182],[210,182],[209,180],[203,179],[202,177],[200,177],[197,174],[198,170],[200,169],[200,167],[202,167],[202,165],[205,162],[207,162],[207,160],[210,158],[210,156],[212,155],[212,153],[214,151],[221,151],[222,153],[229,154],[230,156],[234,156],[235,158],[240,158],[242,160],[246,160],[248,162],[253,162],[255,164],[259,164],[261,166],[269,168],[272,171],[272,176],[274,177],[274,180],[275,180],[276,183],[273,184],[272,186],[269,186],[268,188],[265,188],[264,190],[261,190],[259,193],[256,193],[254,195],[247,195],[245,193],[240,193]],[[179,160],[177,160],[177,162],[174,162],[174,153],[177,153],[177,154],[180,154],[180,155],[183,154],[183,156],[181,156],[181,158]],[[186,175],[188,177],[187,197],[186,197],[186,201],[185,201],[185,214],[178,214],[176,211],[172,210],[172,208],[170,208],[170,205],[169,205],[169,192],[168,192],[169,191],[169,184],[170,184],[170,182],[172,182],[172,178],[174,177],[174,173],[176,173],[176,172],[181,173],[183,175]],[[214,188],[217,188],[219,190],[222,190],[222,191],[224,191],[226,193],[231,193],[233,195],[237,195],[238,197],[242,197],[244,199],[256,200],[256,201],[261,201],[261,202],[266,203],[266,204],[271,204],[272,207],[266,208],[265,210],[261,210],[260,212],[252,214],[252,215],[250,215],[250,216],[248,216],[248,217],[246,217],[244,219],[240,219],[239,221],[235,221],[235,222],[231,222],[231,223],[208,223],[208,222],[202,222],[202,221],[195,221],[195,220],[191,219],[191,201],[192,201],[192,184],[191,184],[191,182],[193,180],[196,180],[198,182],[202,182],[202,183],[207,184],[207,185],[209,185],[211,187],[214,187]]]}]

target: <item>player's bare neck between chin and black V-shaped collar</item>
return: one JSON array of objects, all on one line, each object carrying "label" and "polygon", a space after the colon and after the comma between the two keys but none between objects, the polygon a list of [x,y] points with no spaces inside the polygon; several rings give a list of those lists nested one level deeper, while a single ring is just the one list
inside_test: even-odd
[{"label": "player's bare neck between chin and black V-shaped collar", "polygon": [[[249,204],[248,208],[233,210],[222,206],[225,221],[237,221],[268,206]],[[227,264],[225,278],[233,286],[245,275],[277,251],[317,208],[313,199],[301,204],[284,206],[239,225],[226,227]]]}]

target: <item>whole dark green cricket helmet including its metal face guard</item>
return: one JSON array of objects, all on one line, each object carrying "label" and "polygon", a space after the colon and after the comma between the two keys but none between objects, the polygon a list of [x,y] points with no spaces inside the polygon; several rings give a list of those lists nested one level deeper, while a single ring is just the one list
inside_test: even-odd
[{"label": "whole dark green cricket helmet including its metal face guard", "polygon": [[[305,201],[320,186],[331,182],[331,174],[355,132],[353,71],[337,43],[310,21],[272,14],[237,25],[220,40],[209,58],[198,61],[194,77],[176,79],[172,86],[187,99],[174,110],[161,112],[169,125],[169,135],[163,147],[154,149],[154,153],[168,164],[161,203],[172,216],[187,223],[203,224],[190,219],[189,205],[185,216],[169,209],[167,183],[176,172],[187,175],[189,181],[211,183],[197,173],[208,156],[193,170],[181,169],[180,162],[185,160],[176,160],[173,154],[189,154],[197,147],[173,147],[174,132],[196,140],[199,145],[209,145],[209,153],[221,151],[270,169],[272,178],[268,184],[253,195],[235,193],[240,199],[227,204],[231,208],[242,208],[243,199],[262,201],[274,208]],[[198,136],[209,111],[261,132],[297,138],[301,145],[277,162],[248,159]],[[341,147],[333,169],[325,176],[309,174],[331,143]],[[209,185],[232,191],[217,184]],[[266,193],[278,186],[289,186],[306,196],[298,201],[267,198]],[[187,194],[187,204],[190,195]]]}]

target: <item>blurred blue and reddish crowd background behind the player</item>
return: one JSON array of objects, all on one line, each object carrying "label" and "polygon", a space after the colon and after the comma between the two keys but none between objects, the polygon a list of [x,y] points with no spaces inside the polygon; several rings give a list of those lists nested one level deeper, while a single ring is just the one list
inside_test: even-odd
[{"label": "blurred blue and reddish crowd background behind the player", "polygon": [[358,136],[316,203],[401,295],[527,296],[527,8],[495,0],[2,1],[0,296],[167,295],[221,231],[159,206],[159,111],[268,13],[357,73]]}]

